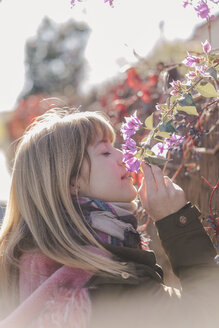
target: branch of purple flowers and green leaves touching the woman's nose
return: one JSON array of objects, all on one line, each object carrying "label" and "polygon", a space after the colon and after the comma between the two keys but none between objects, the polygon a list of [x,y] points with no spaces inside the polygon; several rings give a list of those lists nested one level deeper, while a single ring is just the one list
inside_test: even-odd
[{"label": "branch of purple flowers and green leaves touching the woman's nose", "polygon": [[[214,81],[217,79],[219,56],[211,53],[211,46],[207,40],[202,43],[202,48],[203,52],[196,55],[191,55],[188,52],[182,62],[189,69],[185,80],[173,81],[166,103],[157,104],[156,109],[159,112],[160,120],[156,126],[153,122],[154,113],[145,120],[144,125],[138,119],[137,111],[133,116],[125,118],[126,123],[123,123],[121,128],[125,140],[122,149],[124,162],[129,171],[139,172],[142,160],[158,165],[166,163],[169,160],[169,157],[166,158],[168,151],[182,149],[182,143],[185,139],[184,136],[176,134],[176,129],[179,129],[176,116],[181,112],[187,115],[200,116],[193,99],[195,95],[206,98],[219,97],[214,86]],[[149,133],[137,145],[132,137],[142,127],[149,130]],[[188,136],[185,143],[192,139],[192,135]],[[159,142],[151,146],[152,140]]]}]

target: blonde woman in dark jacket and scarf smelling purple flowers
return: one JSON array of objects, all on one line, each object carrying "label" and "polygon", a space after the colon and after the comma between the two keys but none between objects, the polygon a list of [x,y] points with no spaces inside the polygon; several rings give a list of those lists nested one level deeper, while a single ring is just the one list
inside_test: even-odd
[{"label": "blonde woman in dark jacket and scarf smelling purple flowers", "polygon": [[164,288],[154,253],[142,250],[137,191],[114,139],[101,114],[50,110],[20,140],[0,237],[0,327],[170,327],[190,298],[215,289],[216,252],[200,212],[142,163],[142,206],[194,295],[182,302]]}]

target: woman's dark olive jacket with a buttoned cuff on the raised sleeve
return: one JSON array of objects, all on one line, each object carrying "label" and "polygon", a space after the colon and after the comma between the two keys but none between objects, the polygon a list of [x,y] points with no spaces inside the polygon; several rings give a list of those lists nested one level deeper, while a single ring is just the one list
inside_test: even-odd
[{"label": "woman's dark olive jacket with a buttoned cuff on the raised sleeve", "polygon": [[104,245],[124,265],[124,271],[117,278],[97,274],[87,283],[91,328],[204,328],[219,323],[219,267],[199,216],[197,207],[187,203],[156,222],[182,290],[163,285],[163,272],[152,251]]}]

